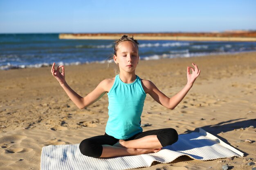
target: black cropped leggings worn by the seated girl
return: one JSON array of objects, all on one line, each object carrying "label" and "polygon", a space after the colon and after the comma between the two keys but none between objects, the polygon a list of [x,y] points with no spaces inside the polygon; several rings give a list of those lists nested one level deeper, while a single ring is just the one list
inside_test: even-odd
[{"label": "black cropped leggings worn by the seated girl", "polygon": [[[148,130],[146,132],[140,132],[125,141],[130,141],[133,139],[139,139],[148,135],[157,135],[157,139],[161,143],[162,147],[174,144],[178,140],[177,131],[173,128]],[[102,145],[114,145],[119,141],[115,137],[112,137],[105,133],[105,135],[95,136],[81,141],[79,145],[80,152],[83,155],[98,158],[102,154]]]}]

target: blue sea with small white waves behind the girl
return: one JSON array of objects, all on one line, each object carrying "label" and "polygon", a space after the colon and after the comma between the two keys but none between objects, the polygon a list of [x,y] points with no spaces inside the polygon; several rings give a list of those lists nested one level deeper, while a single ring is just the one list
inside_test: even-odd
[{"label": "blue sea with small white waves behind the girl", "polygon": [[[136,39],[136,37],[135,37]],[[256,51],[256,42],[139,40],[141,60]],[[112,62],[114,40],[60,40],[58,34],[0,34],[0,70]]]}]

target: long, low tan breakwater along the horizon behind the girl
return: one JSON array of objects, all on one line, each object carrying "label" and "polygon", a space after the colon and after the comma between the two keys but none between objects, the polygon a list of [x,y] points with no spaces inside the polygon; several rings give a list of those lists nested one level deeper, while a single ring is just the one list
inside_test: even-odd
[{"label": "long, low tan breakwater along the horizon behind the girl", "polygon": [[118,40],[122,35],[136,40],[256,42],[256,31],[223,33],[61,33],[59,39]]}]

